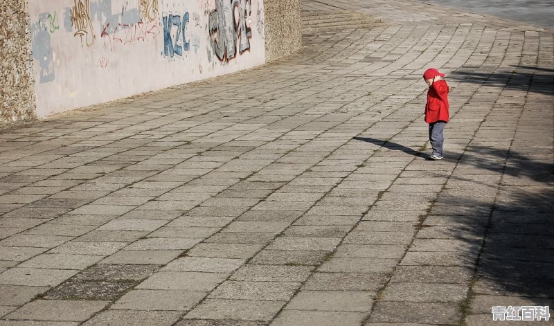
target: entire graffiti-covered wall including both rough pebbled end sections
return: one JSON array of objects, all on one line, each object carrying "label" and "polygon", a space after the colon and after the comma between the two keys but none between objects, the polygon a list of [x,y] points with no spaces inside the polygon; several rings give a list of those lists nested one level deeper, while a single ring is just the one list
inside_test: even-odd
[{"label": "entire graffiti-covered wall including both rough pebbled end sections", "polygon": [[300,0],[1,0],[0,15],[0,123],[250,69],[301,44]]}]

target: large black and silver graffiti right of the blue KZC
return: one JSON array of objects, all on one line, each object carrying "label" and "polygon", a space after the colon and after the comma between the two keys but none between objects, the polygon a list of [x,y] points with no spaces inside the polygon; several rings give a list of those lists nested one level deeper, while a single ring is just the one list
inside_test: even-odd
[{"label": "large black and silver graffiti right of the blue KZC", "polygon": [[[238,15],[235,15],[235,12]],[[226,62],[250,49],[251,0],[216,0],[210,13],[209,34],[217,57]]]}]

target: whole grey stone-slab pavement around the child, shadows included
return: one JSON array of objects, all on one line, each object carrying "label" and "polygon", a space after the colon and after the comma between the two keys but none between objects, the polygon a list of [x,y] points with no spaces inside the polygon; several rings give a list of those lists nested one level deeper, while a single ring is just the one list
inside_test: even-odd
[{"label": "whole grey stone-slab pavement around the child, shadows included", "polygon": [[[0,132],[1,326],[554,307],[552,31],[405,0],[303,8],[389,25]],[[443,161],[426,160],[429,66],[452,89]]]}]

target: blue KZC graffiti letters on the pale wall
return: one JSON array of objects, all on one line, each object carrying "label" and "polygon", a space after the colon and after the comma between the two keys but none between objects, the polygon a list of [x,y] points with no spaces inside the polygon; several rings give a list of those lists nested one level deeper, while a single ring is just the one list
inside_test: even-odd
[{"label": "blue KZC graffiti letters on the pale wall", "polygon": [[182,18],[180,15],[163,16],[162,21],[163,55],[166,57],[182,56],[183,50],[188,51],[190,48],[190,42],[186,40],[186,27],[189,21],[188,12],[185,12]]}]

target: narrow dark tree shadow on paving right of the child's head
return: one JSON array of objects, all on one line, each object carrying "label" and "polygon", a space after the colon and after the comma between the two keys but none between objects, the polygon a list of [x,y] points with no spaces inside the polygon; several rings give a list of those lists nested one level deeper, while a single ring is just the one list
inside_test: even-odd
[{"label": "narrow dark tree shadow on paving right of the child's head", "polygon": [[483,84],[483,86],[500,87],[507,90],[529,91],[530,93],[541,93],[554,95],[554,71],[540,67],[515,66],[520,69],[528,69],[528,72],[505,72],[495,71],[494,73],[475,71],[474,68],[458,69],[448,75],[448,78],[456,82],[470,82]]}]

